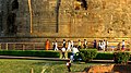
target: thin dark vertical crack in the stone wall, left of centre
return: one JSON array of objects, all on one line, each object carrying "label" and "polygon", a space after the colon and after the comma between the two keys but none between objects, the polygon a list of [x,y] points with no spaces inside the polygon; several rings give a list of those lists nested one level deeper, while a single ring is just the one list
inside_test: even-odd
[{"label": "thin dark vertical crack in the stone wall, left of centre", "polygon": [[56,24],[57,24],[57,28],[56,32],[59,32],[59,9],[60,9],[60,3],[61,0],[57,0],[57,7],[56,7]]}]

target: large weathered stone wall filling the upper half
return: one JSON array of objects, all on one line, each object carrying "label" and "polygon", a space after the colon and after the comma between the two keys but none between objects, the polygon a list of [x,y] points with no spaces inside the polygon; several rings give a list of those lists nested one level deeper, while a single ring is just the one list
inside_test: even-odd
[{"label": "large weathered stone wall filling the upper half", "polygon": [[[5,9],[0,8],[0,31],[5,34],[7,9],[13,0],[1,1]],[[19,0],[16,36],[131,37],[130,0],[31,0],[31,5],[33,24],[28,0]]]}]

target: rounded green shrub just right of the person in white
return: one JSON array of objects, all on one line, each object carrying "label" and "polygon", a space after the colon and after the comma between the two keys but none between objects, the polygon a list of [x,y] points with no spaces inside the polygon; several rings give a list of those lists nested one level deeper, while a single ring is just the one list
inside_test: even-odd
[{"label": "rounded green shrub just right of the person in white", "polygon": [[93,58],[96,57],[97,50],[96,49],[82,49],[80,50],[80,54],[84,62],[90,62],[91,60],[93,60]]}]

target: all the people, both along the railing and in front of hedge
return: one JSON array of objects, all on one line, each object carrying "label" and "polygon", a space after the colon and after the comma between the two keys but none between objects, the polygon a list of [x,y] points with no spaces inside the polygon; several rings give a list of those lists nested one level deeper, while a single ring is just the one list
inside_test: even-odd
[{"label": "all the people, both along the railing and in front of hedge", "polygon": [[[67,45],[68,44],[68,45]],[[122,49],[124,50],[124,40],[122,40]],[[49,49],[49,40],[46,40],[46,50]],[[68,71],[71,72],[71,61],[73,61],[73,57],[76,52],[79,52],[79,50],[82,48],[86,49],[87,47],[87,40],[84,39],[84,41],[81,41],[80,39],[78,40],[78,45],[74,45],[73,40],[68,40],[68,42],[66,41],[66,39],[62,40],[62,47],[61,47],[61,51],[62,51],[62,58],[66,58],[66,51],[72,51],[72,56],[70,57],[70,60],[67,62],[67,68]],[[93,41],[93,47],[98,49],[98,50],[107,50],[108,47],[108,41],[107,40],[99,40],[98,42],[96,41],[96,39],[94,39]],[[58,48],[58,41],[55,39],[55,41],[52,41],[52,49],[55,51],[59,50]]]}]

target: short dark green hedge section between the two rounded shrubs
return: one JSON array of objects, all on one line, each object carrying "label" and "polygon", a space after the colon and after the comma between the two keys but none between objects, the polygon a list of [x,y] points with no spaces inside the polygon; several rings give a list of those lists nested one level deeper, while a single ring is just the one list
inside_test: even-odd
[{"label": "short dark green hedge section between the two rounded shrubs", "polygon": [[95,60],[114,60],[114,52],[97,52]]}]

